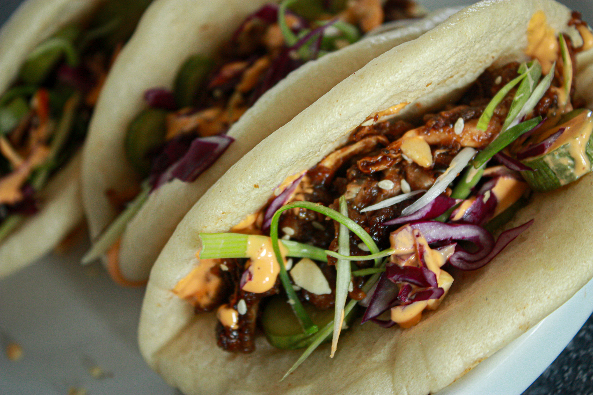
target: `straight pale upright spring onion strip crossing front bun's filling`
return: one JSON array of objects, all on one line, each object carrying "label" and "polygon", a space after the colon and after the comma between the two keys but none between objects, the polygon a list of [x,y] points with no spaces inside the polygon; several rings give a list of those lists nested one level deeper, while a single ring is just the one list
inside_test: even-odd
[{"label": "straight pale upright spring onion strip crossing front bun's filling", "polygon": [[[340,197],[340,214],[345,217],[348,216],[348,205],[346,203],[346,198],[343,195]],[[338,252],[341,255],[350,255],[350,232],[345,224],[340,224],[337,240]],[[350,261],[347,259],[337,259],[336,273],[336,307],[334,308],[334,329],[333,339],[331,339],[330,358],[333,358],[334,354],[336,354],[337,341],[340,338],[340,332],[342,332],[344,307],[346,305],[346,298],[348,297],[348,287],[350,281],[352,281]]]}]

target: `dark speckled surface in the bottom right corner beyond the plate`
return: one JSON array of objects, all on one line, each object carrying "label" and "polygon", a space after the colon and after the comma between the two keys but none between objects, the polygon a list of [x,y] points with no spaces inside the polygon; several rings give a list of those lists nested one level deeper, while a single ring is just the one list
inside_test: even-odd
[{"label": "dark speckled surface in the bottom right corner beyond the plate", "polygon": [[593,316],[523,395],[593,395]]}]

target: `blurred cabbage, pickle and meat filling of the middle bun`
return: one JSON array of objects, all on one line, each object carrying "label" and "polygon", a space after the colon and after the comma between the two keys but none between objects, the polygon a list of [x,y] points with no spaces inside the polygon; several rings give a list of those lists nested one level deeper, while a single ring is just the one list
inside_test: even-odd
[{"label": "blurred cabbage, pickle and meat filling of the middle bun", "polygon": [[106,191],[113,206],[123,212],[83,261],[108,249],[117,260],[117,240],[149,192],[175,178],[194,181],[234,141],[225,135],[229,127],[292,70],[358,41],[385,22],[415,18],[422,12],[407,0],[383,5],[379,0],[347,5],[288,0],[280,6],[264,5],[247,17],[214,59],[201,55],[187,59],[173,91],[145,92],[149,108],[130,124],[126,136],[127,159],[145,177],[142,191]]}]

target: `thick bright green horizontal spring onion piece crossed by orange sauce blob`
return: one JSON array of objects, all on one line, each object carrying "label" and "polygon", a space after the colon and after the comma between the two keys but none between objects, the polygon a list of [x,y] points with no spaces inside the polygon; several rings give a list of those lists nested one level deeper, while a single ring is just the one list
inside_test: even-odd
[{"label": "thick bright green horizontal spring onion piece crossed by orange sauce blob", "polygon": [[[202,242],[200,259],[217,258],[248,258],[248,238],[270,239],[268,236],[243,235],[243,233],[200,233]],[[327,262],[327,254],[322,248],[292,240],[280,240],[286,247],[286,256],[294,258],[310,258],[315,261]]]}]

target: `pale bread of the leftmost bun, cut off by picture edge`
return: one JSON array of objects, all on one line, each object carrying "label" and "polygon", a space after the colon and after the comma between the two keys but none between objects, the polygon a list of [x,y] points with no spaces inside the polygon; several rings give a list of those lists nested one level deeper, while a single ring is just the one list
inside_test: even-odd
[{"label": "pale bread of the leftmost bun, cut off by picture edge", "polygon": [[[0,95],[38,44],[64,25],[87,18],[102,1],[28,0],[21,4],[0,30]],[[0,278],[50,252],[82,220],[78,156],[44,188],[42,210],[0,243]]]}]

